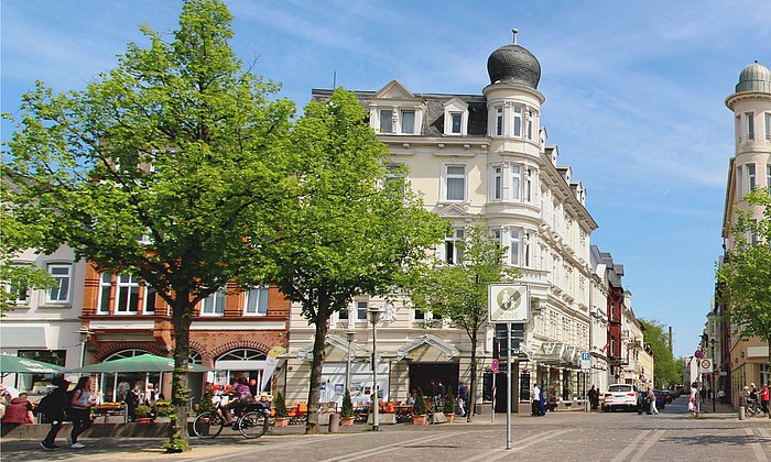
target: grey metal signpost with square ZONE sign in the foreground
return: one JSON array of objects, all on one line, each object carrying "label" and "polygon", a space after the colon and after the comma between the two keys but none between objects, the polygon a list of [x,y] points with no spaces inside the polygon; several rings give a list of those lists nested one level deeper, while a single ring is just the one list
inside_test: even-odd
[{"label": "grey metal signpost with square ZONE sign in the foreground", "polygon": [[[488,292],[488,319],[496,324],[506,324],[506,449],[511,449],[511,356],[519,354],[520,341],[524,340],[524,323],[530,315],[530,286],[522,283],[490,284]],[[515,345],[512,348],[512,323],[517,327]],[[498,331],[498,326],[496,326]],[[498,339],[497,339],[498,340]],[[495,376],[495,375],[493,375]],[[495,414],[495,408],[492,409]]]}]

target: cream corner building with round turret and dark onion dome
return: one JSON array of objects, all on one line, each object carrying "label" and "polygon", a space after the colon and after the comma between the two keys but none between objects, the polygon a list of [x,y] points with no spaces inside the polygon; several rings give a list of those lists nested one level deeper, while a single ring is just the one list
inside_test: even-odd
[{"label": "cream corner building with round turret and dark onion dome", "polygon": [[[521,280],[530,285],[530,320],[512,367],[518,403],[513,410],[530,411],[535,383],[558,408],[583,409],[582,399],[591,385],[604,391],[608,383],[623,380],[621,363],[611,372],[607,356],[608,274],[613,268],[607,266],[609,254],[591,257],[590,235],[597,223],[586,208],[586,189],[572,168],[560,162],[557,146],[547,142],[539,61],[514,38],[489,56],[487,69],[490,84],[481,95],[417,94],[395,79],[377,91],[356,94],[369,111],[371,127],[388,145],[392,164],[404,164],[425,207],[453,224],[436,255],[457,264],[457,241],[466,227],[481,222],[508,248],[504,263],[520,268]],[[312,97],[325,100],[330,95],[332,90],[315,89]],[[613,280],[620,282],[620,276]],[[630,300],[631,294],[618,302],[630,305]],[[373,305],[384,310],[377,324],[383,399],[405,402],[419,388],[430,395],[432,381],[457,395],[458,383],[468,384],[470,367],[476,366],[478,410],[489,413],[493,326],[479,332],[474,365],[465,331],[431,312],[374,297],[358,297],[347,311],[333,316],[321,402],[341,400],[349,349],[354,400],[371,394],[372,329],[367,309]],[[627,308],[631,312],[631,306]],[[313,336],[314,327],[293,306],[287,367],[280,378],[290,403],[307,399]],[[633,340],[642,344],[642,338]],[[613,341],[631,344],[632,339]],[[593,369],[587,374],[580,370],[580,352],[591,352]],[[499,411],[506,410],[506,361],[500,363]],[[645,373],[650,380],[652,371]],[[639,371],[634,380],[640,380]]]}]

